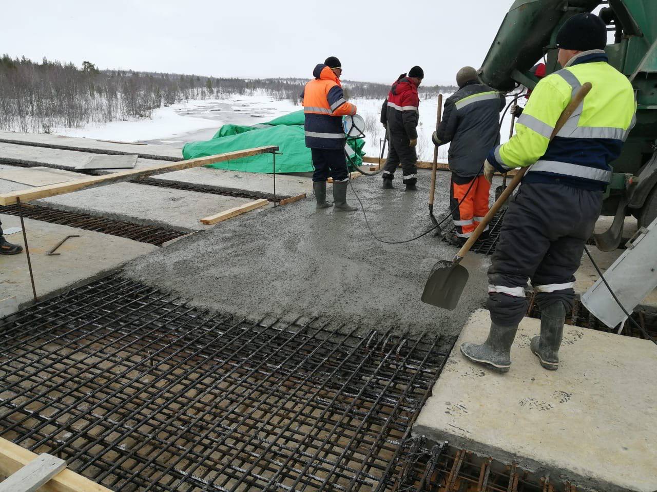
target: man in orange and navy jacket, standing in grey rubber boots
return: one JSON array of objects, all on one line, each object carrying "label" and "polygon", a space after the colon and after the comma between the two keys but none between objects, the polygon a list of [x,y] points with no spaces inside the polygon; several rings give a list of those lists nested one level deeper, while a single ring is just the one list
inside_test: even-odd
[{"label": "man in orange and navy jacket, standing in grey rubber boots", "polygon": [[340,84],[342,66],[335,56],[329,56],[313,70],[313,80],[302,93],[306,130],[306,147],[313,159],[313,192],[317,209],[331,204],[326,201],[328,175],[333,178],[334,209],[353,212],[347,204],[349,171],[344,146],[347,143],[342,116],[356,113],[356,106],[344,99]]}]

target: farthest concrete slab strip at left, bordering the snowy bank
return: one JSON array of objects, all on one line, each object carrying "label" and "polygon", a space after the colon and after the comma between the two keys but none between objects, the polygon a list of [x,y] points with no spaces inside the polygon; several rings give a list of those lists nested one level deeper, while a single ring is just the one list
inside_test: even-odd
[{"label": "farthest concrete slab strip at left, bordering the snowy bank", "polygon": [[64,150],[100,150],[108,154],[139,154],[149,159],[182,160],[181,148],[157,144],[136,144],[131,142],[108,142],[93,138],[60,136],[45,133],[0,132],[0,142],[31,144],[34,146],[53,146]]}]

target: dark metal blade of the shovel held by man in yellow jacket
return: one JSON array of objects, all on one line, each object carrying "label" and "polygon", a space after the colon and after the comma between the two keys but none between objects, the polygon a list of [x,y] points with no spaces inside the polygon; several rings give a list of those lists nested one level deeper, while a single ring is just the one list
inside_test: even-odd
[{"label": "dark metal blade of the shovel held by man in yellow jacket", "polygon": [[455,264],[453,261],[439,261],[434,265],[424,285],[422,302],[453,310],[459,304],[461,293],[467,282],[468,270],[464,266]]}]

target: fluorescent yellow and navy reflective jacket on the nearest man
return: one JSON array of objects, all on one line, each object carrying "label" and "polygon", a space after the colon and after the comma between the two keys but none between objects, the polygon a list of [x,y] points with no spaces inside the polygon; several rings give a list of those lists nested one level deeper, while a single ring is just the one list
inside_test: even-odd
[{"label": "fluorescent yellow and navy reflective jacket on the nearest man", "polygon": [[[550,142],[556,121],[585,82],[591,92]],[[627,77],[607,63],[602,50],[581,52],[566,68],[541,79],[516,123],[516,134],[488,154],[498,171],[533,167],[525,182],[555,182],[602,190],[610,163],[636,121],[634,91]]]}]

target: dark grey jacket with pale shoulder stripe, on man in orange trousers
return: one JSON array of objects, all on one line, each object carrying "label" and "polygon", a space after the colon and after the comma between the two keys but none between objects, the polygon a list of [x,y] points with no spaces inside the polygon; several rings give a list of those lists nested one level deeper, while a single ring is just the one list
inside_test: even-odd
[{"label": "dark grey jacket with pale shoulder stripe, on man in orange trousers", "polygon": [[468,82],[445,101],[434,144],[449,144],[449,169],[465,178],[483,174],[482,163],[499,144],[499,112],[505,98],[487,85]]}]

